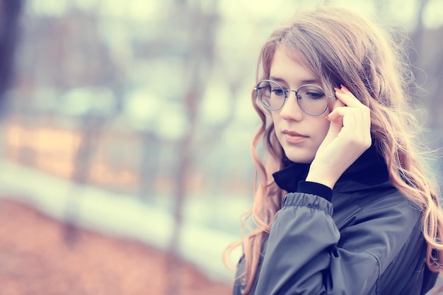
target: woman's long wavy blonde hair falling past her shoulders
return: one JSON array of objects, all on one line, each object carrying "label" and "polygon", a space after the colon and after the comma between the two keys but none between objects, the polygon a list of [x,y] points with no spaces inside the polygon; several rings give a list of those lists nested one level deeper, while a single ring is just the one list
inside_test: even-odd
[{"label": "woman's long wavy blonde hair falling past her shoulders", "polygon": [[[423,147],[418,142],[421,126],[410,107],[414,87],[407,63],[405,33],[381,26],[343,8],[320,7],[297,15],[296,21],[272,33],[260,52],[257,82],[268,79],[272,57],[277,47],[292,52],[297,61],[319,77],[323,88],[332,91],[343,84],[371,110],[372,136],[384,155],[393,185],[422,209],[422,233],[427,241],[426,261],[430,270],[442,272],[443,214],[439,207],[437,185],[430,178],[422,160]],[[255,228],[241,241],[229,245],[224,261],[242,246],[246,260],[243,274],[244,294],[251,291],[257,272],[263,238],[280,209],[284,191],[275,184],[272,173],[283,168],[284,151],[277,141],[269,113],[261,108],[252,93],[252,103],[261,126],[251,144],[255,164],[254,201],[243,216],[243,228],[251,218]],[[264,147],[260,158],[258,148]]]}]

